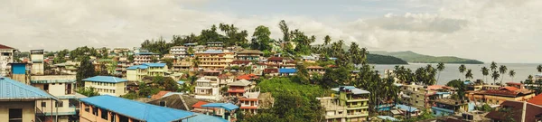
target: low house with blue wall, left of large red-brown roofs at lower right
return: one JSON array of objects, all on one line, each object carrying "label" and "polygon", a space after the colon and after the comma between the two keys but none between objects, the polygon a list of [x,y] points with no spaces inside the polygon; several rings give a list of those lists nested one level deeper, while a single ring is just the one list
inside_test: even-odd
[{"label": "low house with blue wall, left of large red-brown roofs at lower right", "polygon": [[474,110],[474,103],[468,101],[462,101],[457,99],[435,99],[432,100],[433,116],[451,116],[456,113],[472,112]]}]

